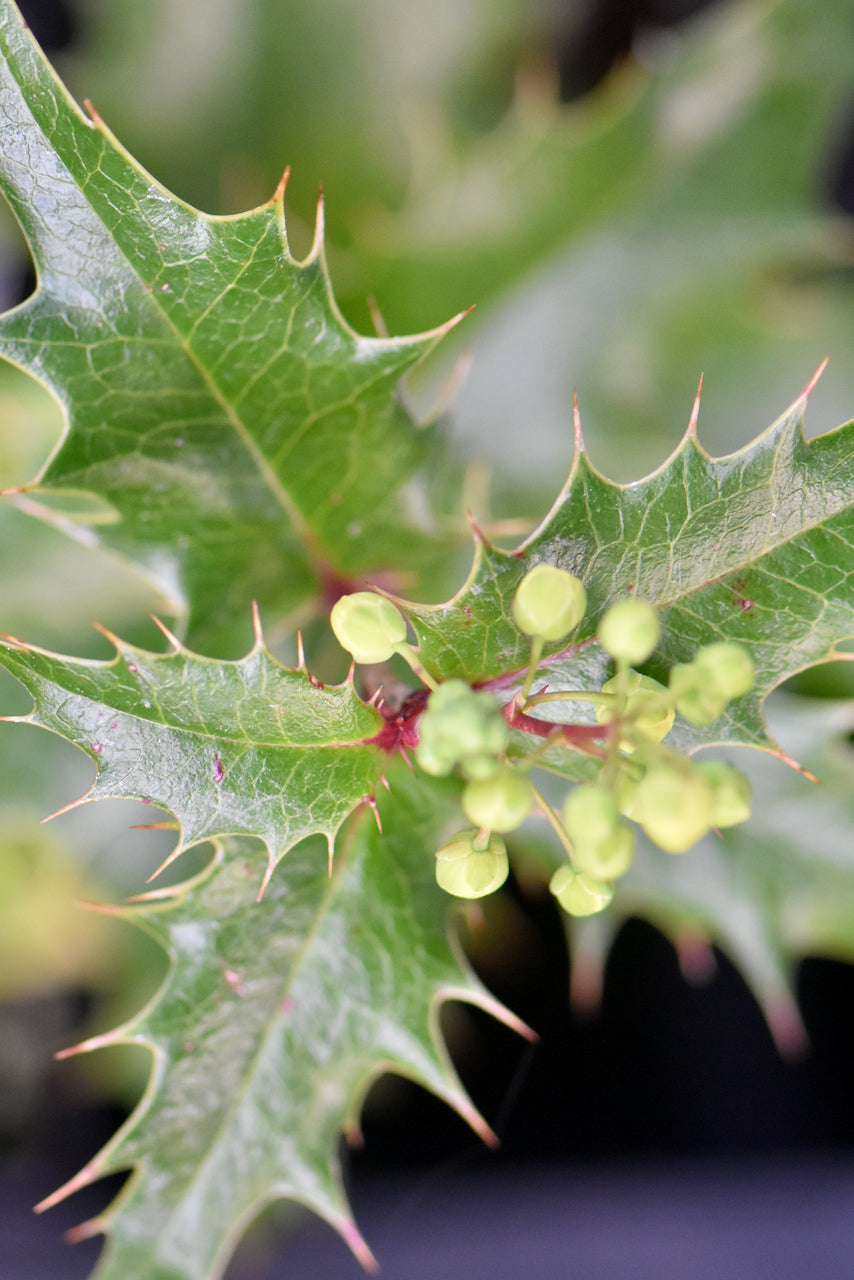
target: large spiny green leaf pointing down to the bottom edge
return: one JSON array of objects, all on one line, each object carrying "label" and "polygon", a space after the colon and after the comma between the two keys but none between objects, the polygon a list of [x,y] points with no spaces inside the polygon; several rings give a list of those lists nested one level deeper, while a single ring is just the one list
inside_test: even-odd
[{"label": "large spiny green leaf pointing down to the bottom edge", "polygon": [[211,1280],[280,1197],[320,1213],[373,1266],[344,1199],[338,1143],[342,1132],[359,1135],[364,1097],[385,1071],[431,1089],[490,1139],[447,1057],[439,1006],[463,1000],[525,1028],[447,937],[433,841],[455,795],[398,765],[380,800],[383,835],[371,815],[356,818],[332,878],[307,841],[257,902],[257,849],[232,840],[195,881],[122,911],[164,946],[170,972],[138,1018],[79,1048],[146,1044],[151,1083],[124,1129],[47,1202],[136,1170],[82,1229],[108,1233],[97,1280]]}]

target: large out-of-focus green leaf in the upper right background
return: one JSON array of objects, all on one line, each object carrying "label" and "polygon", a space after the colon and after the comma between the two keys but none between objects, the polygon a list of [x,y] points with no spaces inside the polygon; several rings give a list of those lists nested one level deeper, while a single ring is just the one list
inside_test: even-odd
[{"label": "large out-of-focus green leaf in the upper right background", "polygon": [[[590,148],[611,182],[595,219],[574,225],[568,183],[566,236],[531,209],[543,260],[529,257],[526,276],[493,275],[507,292],[479,312],[456,403],[458,438],[488,442],[512,479],[503,508],[565,465],[574,390],[593,457],[617,479],[672,448],[700,374],[716,452],[737,448],[775,412],[778,388],[794,396],[827,356],[816,408],[828,422],[850,413],[851,237],[830,195],[853,40],[846,0],[711,6],[672,37],[663,69],[615,124],[615,140],[636,124],[630,168],[611,163],[609,131]],[[570,119],[556,119],[554,146],[571,145]]]}]

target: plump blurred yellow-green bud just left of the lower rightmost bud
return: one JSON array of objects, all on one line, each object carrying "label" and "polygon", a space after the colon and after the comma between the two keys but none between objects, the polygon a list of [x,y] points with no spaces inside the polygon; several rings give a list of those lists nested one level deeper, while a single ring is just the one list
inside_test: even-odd
[{"label": "plump blurred yellow-green bud just left of the lower rightmost bud", "polygon": [[632,818],[667,854],[684,854],[712,826],[714,792],[699,769],[653,764],[635,792]]}]

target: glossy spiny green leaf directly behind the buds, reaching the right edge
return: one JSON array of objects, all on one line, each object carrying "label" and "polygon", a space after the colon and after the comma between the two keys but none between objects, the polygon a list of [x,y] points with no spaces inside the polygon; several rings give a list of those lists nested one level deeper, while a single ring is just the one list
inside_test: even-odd
[{"label": "glossy spiny green leaf directly behind the buds, reaching the right edge", "polygon": [[[634,484],[597,472],[579,429],[567,484],[536,532],[515,552],[480,540],[457,596],[407,607],[426,668],[510,686],[508,671],[521,671],[530,653],[511,617],[513,594],[533,564],[557,564],[584,581],[588,612],[535,687],[599,689],[609,664],[595,640],[599,617],[615,598],[636,595],[661,611],[653,676],[666,681],[671,666],[716,640],[737,641],[755,663],[749,694],[708,728],[677,719],[671,741],[776,750],[763,699],[804,667],[848,657],[840,645],[854,635],[854,424],[805,440],[809,390],[725,458],[700,447],[695,410],[673,454]],[[554,701],[536,714],[560,721],[567,707]],[[572,703],[571,718],[593,721],[593,709]]]}]

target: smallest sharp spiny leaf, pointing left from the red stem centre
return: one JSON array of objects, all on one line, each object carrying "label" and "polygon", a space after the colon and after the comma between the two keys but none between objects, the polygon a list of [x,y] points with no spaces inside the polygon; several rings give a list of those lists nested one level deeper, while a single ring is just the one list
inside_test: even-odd
[{"label": "smallest sharp spiny leaf, pointing left from the red stem centre", "polygon": [[200,658],[174,637],[165,654],[110,639],[110,662],[0,644],[0,664],[33,696],[18,718],[96,763],[90,791],[68,808],[136,799],[168,809],[179,829],[169,860],[204,840],[257,836],[265,884],[306,836],[325,836],[332,858],[337,831],[373,799],[385,762],[370,741],[383,717],[351,681],[323,687],[305,668],[282,667],[260,627],[238,662]]}]

